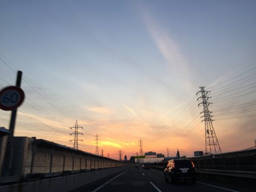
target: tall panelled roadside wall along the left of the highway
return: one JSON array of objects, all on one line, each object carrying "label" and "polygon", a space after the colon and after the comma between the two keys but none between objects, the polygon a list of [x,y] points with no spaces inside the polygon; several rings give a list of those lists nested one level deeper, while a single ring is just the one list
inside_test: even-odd
[{"label": "tall panelled roadside wall along the left of the highway", "polygon": [[14,137],[11,165],[11,174],[0,177],[0,185],[130,166],[116,159],[28,137]]}]

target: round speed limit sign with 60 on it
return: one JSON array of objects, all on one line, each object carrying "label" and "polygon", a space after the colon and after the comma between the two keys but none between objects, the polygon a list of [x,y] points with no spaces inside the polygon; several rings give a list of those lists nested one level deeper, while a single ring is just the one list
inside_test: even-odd
[{"label": "round speed limit sign with 60 on it", "polygon": [[13,110],[24,101],[25,93],[20,87],[7,86],[0,91],[0,109]]}]

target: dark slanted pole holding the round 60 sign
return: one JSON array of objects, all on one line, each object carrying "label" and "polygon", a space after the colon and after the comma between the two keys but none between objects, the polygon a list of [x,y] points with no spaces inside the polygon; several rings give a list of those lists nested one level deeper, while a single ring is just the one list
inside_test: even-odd
[{"label": "dark slanted pole holding the round 60 sign", "polygon": [[[16,78],[17,87],[20,87],[21,85],[21,78],[22,78],[22,71],[18,71],[17,78]],[[7,136],[8,138],[6,143],[7,145],[6,145],[6,151],[5,151],[5,157],[4,157],[2,177],[12,176],[11,170],[12,170],[13,153],[14,153],[13,134],[14,134],[14,128],[15,128],[16,114],[17,114],[17,108],[13,109],[11,114],[11,120],[10,120],[10,126],[9,126],[10,134]]]}]

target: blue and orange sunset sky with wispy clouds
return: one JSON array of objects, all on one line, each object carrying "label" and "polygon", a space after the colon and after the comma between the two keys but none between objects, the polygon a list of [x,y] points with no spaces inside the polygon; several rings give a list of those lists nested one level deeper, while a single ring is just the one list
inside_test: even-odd
[{"label": "blue and orange sunset sky with wispy clouds", "polygon": [[[0,0],[0,89],[23,72],[14,135],[118,158],[205,151],[199,87],[222,152],[256,139],[255,1]],[[200,93],[199,93],[200,94]],[[199,106],[198,106],[199,105]],[[0,110],[9,127],[10,111]]]}]

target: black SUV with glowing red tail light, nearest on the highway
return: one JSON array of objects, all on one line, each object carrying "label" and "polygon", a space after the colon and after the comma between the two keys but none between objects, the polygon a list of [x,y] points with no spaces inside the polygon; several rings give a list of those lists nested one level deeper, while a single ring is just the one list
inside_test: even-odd
[{"label": "black SUV with glowing red tail light, nearest on the highway", "polygon": [[175,183],[177,180],[196,183],[195,165],[190,159],[172,159],[164,169],[165,181]]}]

